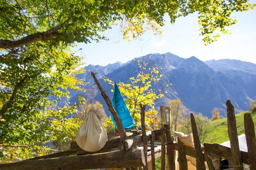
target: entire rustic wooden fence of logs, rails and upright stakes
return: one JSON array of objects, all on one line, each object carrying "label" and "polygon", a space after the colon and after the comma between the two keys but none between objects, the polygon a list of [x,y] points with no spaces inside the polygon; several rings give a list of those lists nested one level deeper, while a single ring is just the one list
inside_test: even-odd
[{"label": "entire rustic wooden fence of logs, rails and upright stakes", "polygon": [[[243,163],[248,164],[250,170],[256,170],[256,141],[254,123],[251,115],[250,113],[245,113],[244,115],[245,136],[248,148],[248,152],[244,152],[239,150],[234,107],[229,100],[227,100],[226,106],[228,135],[231,148],[220,144],[209,143],[204,143],[202,146],[198,136],[195,118],[192,113],[190,114],[190,118],[195,148],[191,148],[184,145],[180,139],[178,139],[177,142],[174,141],[170,125],[162,125],[161,129],[146,131],[144,123],[146,107],[141,104],[142,134],[139,134],[138,132],[126,133],[108,96],[97,81],[95,74],[92,73],[92,76],[95,78],[95,82],[117,122],[120,138],[110,140],[112,137],[109,135],[109,139],[105,146],[96,152],[84,151],[75,142],[72,142],[70,150],[35,157],[24,161],[1,163],[1,170],[82,170],[97,168],[125,168],[127,170],[138,170],[140,167],[143,167],[145,170],[155,170],[155,159],[160,156],[161,170],[165,170],[166,167],[168,170],[175,170],[175,150],[179,153],[178,161],[181,170],[188,169],[186,155],[196,158],[197,170],[206,169],[205,162],[207,163],[209,170],[217,170],[219,168],[214,166],[211,155],[217,155],[218,157],[231,160],[235,170],[243,169]],[[161,146],[154,147],[155,140],[161,140]],[[148,151],[148,141],[151,141],[150,151]],[[143,144],[143,150],[137,148],[139,144]],[[165,162],[166,155],[167,162]],[[150,168],[148,168],[148,165],[150,165]]]}]

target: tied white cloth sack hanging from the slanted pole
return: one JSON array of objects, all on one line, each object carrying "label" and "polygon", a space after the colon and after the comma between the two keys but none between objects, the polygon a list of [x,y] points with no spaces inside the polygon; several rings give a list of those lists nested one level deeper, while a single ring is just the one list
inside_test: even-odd
[{"label": "tied white cloth sack hanging from the slanted pole", "polygon": [[104,109],[96,105],[85,115],[84,121],[75,136],[76,143],[83,150],[95,152],[106,144],[108,136],[101,121],[101,118],[105,116]]}]

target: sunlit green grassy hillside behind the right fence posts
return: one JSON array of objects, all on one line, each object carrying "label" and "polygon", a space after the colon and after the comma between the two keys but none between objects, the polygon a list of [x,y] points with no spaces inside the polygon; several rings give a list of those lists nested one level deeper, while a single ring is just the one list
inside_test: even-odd
[{"label": "sunlit green grassy hillside behind the right fence posts", "polygon": [[[237,124],[238,135],[245,133],[245,128],[244,128],[244,114],[245,113],[251,113],[251,111],[245,111],[245,112],[236,114],[236,124]],[[256,131],[256,112],[251,113],[251,117],[254,122],[254,128]],[[229,140],[228,133],[227,133],[227,118],[226,117],[222,118],[222,119],[214,120],[210,123],[214,128],[212,134],[215,136],[215,140],[211,141],[211,143],[221,144],[221,143]]]}]

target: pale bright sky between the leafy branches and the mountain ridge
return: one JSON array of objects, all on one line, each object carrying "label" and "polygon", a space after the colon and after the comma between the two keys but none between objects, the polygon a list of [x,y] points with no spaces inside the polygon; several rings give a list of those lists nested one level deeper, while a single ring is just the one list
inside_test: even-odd
[{"label": "pale bright sky between the leafy branches and the mountain ridge", "polygon": [[[256,3],[256,0],[251,3]],[[84,65],[105,66],[117,61],[125,63],[150,53],[166,52],[182,58],[195,56],[202,61],[239,59],[256,64],[256,9],[233,13],[232,18],[236,18],[237,23],[228,27],[231,34],[222,35],[217,42],[208,46],[199,36],[197,17],[197,14],[181,17],[173,25],[165,17],[161,38],[148,31],[141,40],[131,42],[123,40],[119,27],[114,26],[103,33],[110,41],[79,43],[77,49],[82,48],[79,54],[84,57]]]}]

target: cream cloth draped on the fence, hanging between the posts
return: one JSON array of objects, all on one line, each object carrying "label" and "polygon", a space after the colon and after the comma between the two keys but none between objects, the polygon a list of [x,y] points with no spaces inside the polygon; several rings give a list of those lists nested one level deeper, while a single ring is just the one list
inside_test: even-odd
[{"label": "cream cloth draped on the fence, hanging between the posts", "polygon": [[[190,133],[188,135],[185,135],[184,133],[182,132],[174,132],[174,134],[181,140],[181,142],[184,144],[184,145],[187,145],[189,147],[192,147],[192,148],[195,148],[195,146],[193,145],[194,144],[194,139],[193,139],[193,134]],[[180,166],[179,166],[179,162],[178,162],[178,151],[176,151],[176,160],[175,160],[175,166],[176,166],[176,169],[180,169]],[[188,166],[188,169],[189,170],[196,170],[196,158],[194,157],[191,157],[191,156],[188,156],[186,155],[187,157],[187,166]],[[206,167],[206,170],[208,170],[208,165],[207,163],[205,162],[205,167]]]}]

